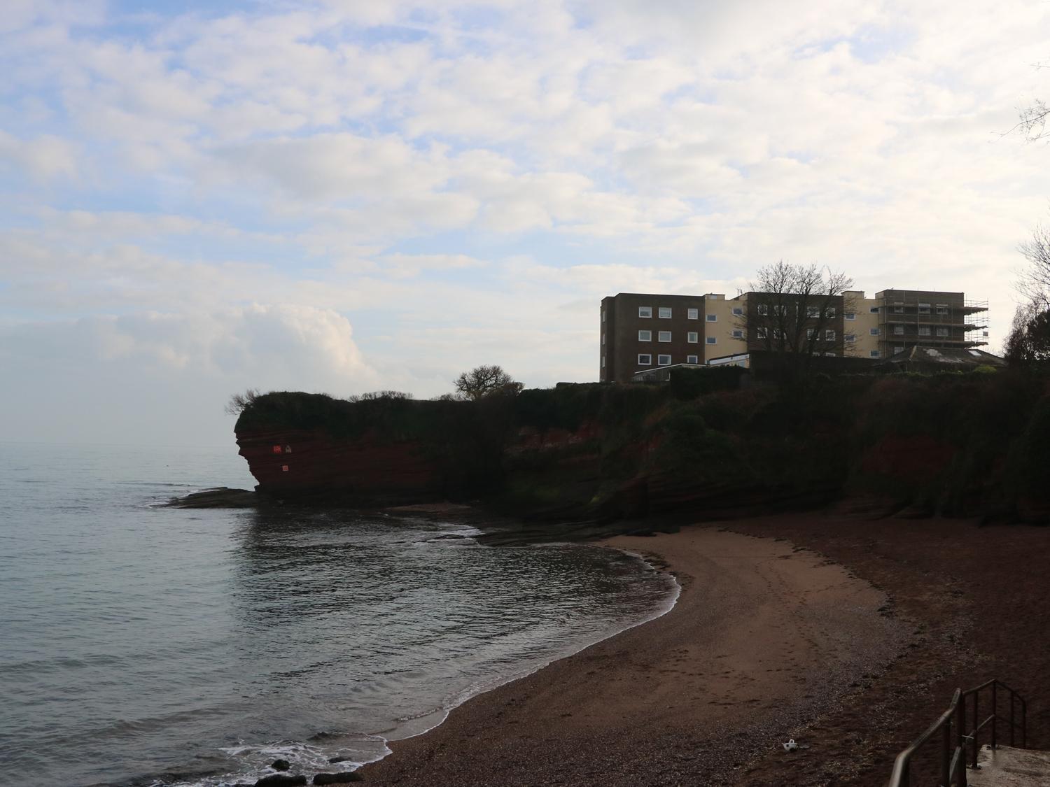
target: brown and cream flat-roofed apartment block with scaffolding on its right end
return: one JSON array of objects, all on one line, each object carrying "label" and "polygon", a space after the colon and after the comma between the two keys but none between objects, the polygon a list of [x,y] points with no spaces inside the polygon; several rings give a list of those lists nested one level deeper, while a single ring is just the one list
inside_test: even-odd
[{"label": "brown and cream flat-roofed apartment block with scaffolding on its right end", "polygon": [[[598,379],[794,346],[823,356],[887,358],[916,345],[965,349],[988,343],[988,303],[963,293],[883,290],[840,296],[621,293],[602,299]],[[781,343],[782,347],[783,344]]]}]

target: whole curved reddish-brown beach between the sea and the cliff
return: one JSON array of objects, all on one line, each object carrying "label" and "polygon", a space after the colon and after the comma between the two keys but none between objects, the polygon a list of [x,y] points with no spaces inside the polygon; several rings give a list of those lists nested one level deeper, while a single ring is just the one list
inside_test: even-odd
[{"label": "whole curved reddish-brown beach between the sea and the cliff", "polygon": [[394,742],[368,781],[881,786],[990,677],[1046,743],[1050,531],[807,514],[608,545],[673,572],[675,608]]}]

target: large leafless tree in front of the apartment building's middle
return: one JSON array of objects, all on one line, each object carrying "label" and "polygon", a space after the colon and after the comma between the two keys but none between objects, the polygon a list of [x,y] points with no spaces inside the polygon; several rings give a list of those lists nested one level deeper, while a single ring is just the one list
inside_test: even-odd
[{"label": "large leafless tree in front of the apartment building's middle", "polygon": [[765,265],[748,284],[748,307],[737,325],[749,347],[792,354],[804,366],[814,356],[846,354],[856,340],[838,325],[843,313],[855,311],[846,294],[853,283],[844,273],[816,263]]}]

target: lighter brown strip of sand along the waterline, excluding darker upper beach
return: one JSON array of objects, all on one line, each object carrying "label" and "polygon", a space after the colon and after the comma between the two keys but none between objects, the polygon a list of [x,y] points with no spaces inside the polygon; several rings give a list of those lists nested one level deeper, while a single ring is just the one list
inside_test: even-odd
[{"label": "lighter brown strip of sand along the waterline, excluding darker upper beach", "polygon": [[764,758],[786,757],[780,742],[862,694],[910,634],[883,591],[761,535],[698,527],[610,539],[676,575],[673,610],[470,700],[362,774],[398,785],[753,778]]}]

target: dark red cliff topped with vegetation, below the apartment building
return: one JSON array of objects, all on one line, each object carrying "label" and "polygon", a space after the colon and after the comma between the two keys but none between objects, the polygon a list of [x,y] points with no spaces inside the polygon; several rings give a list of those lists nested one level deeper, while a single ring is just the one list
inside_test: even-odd
[{"label": "dark red cliff topped with vegetation, below the apartment building", "polygon": [[738,375],[563,384],[477,403],[268,393],[235,430],[258,491],[281,499],[482,498],[554,520],[835,502],[873,515],[1050,512],[1044,377],[817,377],[738,389]]}]

